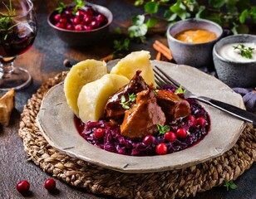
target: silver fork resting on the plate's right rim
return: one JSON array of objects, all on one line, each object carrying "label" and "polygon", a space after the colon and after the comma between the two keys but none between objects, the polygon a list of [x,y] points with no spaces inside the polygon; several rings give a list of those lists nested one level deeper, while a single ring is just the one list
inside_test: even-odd
[{"label": "silver fork resting on the plate's right rim", "polygon": [[[173,85],[176,89],[180,88],[180,84],[173,80],[169,75],[167,75],[163,70],[161,70],[158,66],[155,66],[153,69],[155,72],[155,82],[158,86],[163,85]],[[234,117],[242,119],[246,122],[256,125],[256,114],[253,114],[244,109],[240,109],[234,105],[226,104],[219,100],[210,99],[205,96],[194,95],[190,90],[185,89],[185,87],[181,86],[183,90],[185,90],[185,98],[197,99],[205,104],[209,104],[216,109],[220,109],[228,114],[232,114]]]}]

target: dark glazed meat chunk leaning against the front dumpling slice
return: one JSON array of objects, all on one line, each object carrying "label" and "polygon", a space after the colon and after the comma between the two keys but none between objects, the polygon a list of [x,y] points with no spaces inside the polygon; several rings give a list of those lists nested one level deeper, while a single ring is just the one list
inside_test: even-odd
[{"label": "dark glazed meat chunk leaning against the front dumpling slice", "polygon": [[[137,94],[141,90],[146,89],[145,80],[140,76],[140,70],[138,70],[135,76],[130,80],[128,85],[125,85],[120,90],[118,90],[114,95],[111,95],[110,98],[107,100],[104,111],[105,116],[107,119],[115,119],[116,122],[121,122],[125,116],[125,111],[122,107],[121,103],[121,96],[126,97],[126,101],[129,100],[129,95]],[[128,106],[132,106],[135,104],[135,101],[130,102],[127,104]]]}]

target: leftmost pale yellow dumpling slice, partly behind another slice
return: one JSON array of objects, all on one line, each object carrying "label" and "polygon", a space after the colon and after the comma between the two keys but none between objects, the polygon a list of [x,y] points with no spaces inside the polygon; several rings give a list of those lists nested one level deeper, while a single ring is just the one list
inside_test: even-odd
[{"label": "leftmost pale yellow dumpling slice, partly behind another slice", "polygon": [[72,66],[64,80],[64,93],[67,104],[76,116],[79,115],[77,98],[82,86],[100,79],[106,73],[106,62],[104,61],[86,60]]}]

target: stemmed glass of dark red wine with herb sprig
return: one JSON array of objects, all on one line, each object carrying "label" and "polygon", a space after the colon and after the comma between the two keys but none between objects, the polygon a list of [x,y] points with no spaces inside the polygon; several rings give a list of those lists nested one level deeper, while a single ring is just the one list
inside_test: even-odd
[{"label": "stemmed glass of dark red wine with herb sprig", "polygon": [[0,91],[20,90],[32,77],[14,67],[17,56],[26,52],[37,35],[37,17],[30,0],[0,0]]}]

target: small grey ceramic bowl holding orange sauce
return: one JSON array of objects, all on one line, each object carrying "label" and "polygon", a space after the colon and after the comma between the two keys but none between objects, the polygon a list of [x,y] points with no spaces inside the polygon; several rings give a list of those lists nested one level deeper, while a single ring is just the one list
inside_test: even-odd
[{"label": "small grey ceramic bowl holding orange sauce", "polygon": [[167,39],[174,60],[179,65],[214,68],[213,47],[223,35],[219,24],[190,18],[168,27]]}]

